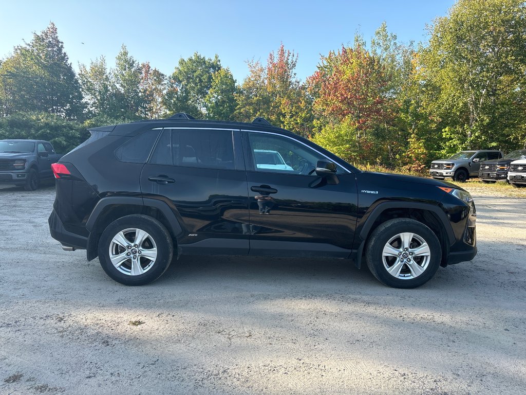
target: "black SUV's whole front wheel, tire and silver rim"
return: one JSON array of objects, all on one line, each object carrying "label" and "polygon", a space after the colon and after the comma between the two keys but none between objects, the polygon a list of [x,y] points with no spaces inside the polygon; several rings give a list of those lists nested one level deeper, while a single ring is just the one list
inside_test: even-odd
[{"label": "black SUV's whole front wheel, tire and silver rim", "polygon": [[442,248],[437,236],[421,222],[396,218],[376,228],[367,243],[371,273],[394,288],[416,288],[437,272]]}]

